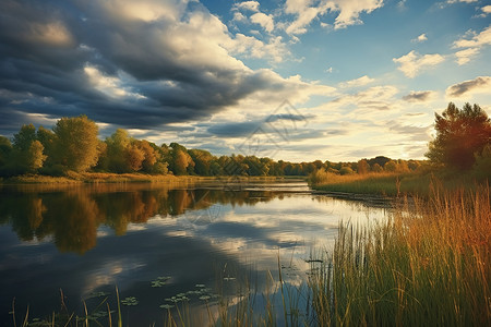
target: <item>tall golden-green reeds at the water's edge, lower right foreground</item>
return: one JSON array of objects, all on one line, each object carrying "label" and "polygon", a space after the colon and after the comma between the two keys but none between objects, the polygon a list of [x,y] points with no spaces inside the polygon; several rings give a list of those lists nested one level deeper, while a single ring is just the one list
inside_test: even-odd
[{"label": "tall golden-green reeds at the water's edge, lower right foreground", "polygon": [[310,280],[319,325],[489,326],[489,186],[432,187],[372,228],[342,226]]}]

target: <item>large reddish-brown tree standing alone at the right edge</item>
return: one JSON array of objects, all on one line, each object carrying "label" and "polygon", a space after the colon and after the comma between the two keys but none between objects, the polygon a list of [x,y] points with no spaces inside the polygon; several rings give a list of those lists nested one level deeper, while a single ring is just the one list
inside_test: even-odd
[{"label": "large reddish-brown tree standing alone at the right edge", "polygon": [[465,104],[460,110],[450,102],[441,116],[435,113],[434,129],[426,156],[444,167],[470,169],[475,155],[491,143],[491,121],[478,105]]}]

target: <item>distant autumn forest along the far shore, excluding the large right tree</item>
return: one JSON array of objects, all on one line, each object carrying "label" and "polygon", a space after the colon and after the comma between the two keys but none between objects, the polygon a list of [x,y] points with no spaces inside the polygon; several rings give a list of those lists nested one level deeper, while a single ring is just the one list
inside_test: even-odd
[{"label": "distant autumn forest along the far shore, excluding the large right tree", "polygon": [[60,119],[52,130],[23,125],[12,140],[0,136],[0,175],[25,173],[64,175],[75,172],[147,173],[175,175],[309,175],[315,170],[339,174],[414,171],[420,160],[386,157],[358,162],[274,161],[256,156],[214,156],[203,149],[188,149],[178,143],[156,145],[131,137],[119,129],[105,141],[97,124],[86,116]]}]

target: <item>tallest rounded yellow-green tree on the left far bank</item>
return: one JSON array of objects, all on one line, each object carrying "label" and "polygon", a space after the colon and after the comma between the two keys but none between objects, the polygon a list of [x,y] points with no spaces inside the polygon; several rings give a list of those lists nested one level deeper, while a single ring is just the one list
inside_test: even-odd
[{"label": "tallest rounded yellow-green tree on the left far bank", "polygon": [[98,128],[86,116],[60,119],[53,132],[57,135],[56,161],[68,169],[83,172],[97,164]]}]

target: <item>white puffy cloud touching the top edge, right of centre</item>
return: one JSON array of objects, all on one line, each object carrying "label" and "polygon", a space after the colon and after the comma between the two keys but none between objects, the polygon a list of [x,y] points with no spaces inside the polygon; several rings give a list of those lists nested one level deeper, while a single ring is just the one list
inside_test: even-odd
[{"label": "white puffy cloud touching the top edge, right of centre", "polygon": [[334,20],[334,28],[346,28],[349,25],[362,24],[360,14],[371,13],[383,5],[383,0],[322,0],[314,5],[309,0],[287,0],[284,11],[296,16],[287,27],[288,34],[304,34],[311,22],[327,12],[338,13]]}]

